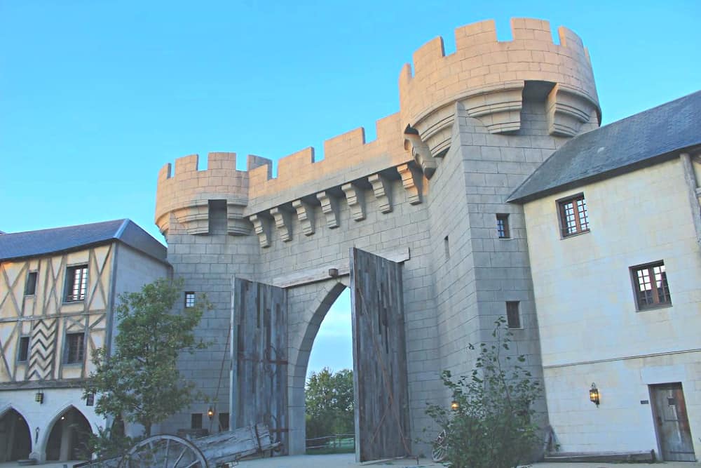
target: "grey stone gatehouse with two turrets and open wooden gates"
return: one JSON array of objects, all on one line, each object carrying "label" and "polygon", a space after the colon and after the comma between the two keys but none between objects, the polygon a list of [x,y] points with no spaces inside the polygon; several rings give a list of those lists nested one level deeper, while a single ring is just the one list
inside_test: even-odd
[{"label": "grey stone gatehouse with two turrets and open wooden gates", "polygon": [[339,135],[322,161],[311,148],[280,159],[277,178],[258,156],[237,171],[233,153],[161,169],[168,260],[186,294],[215,304],[198,330],[214,345],[181,359],[211,403],[162,429],[201,424],[211,407],[235,425],[265,420],[303,453],[311,341],[349,283],[361,461],[426,453],[414,439],[431,425],[426,402],[447,399],[440,371],[471,368],[468,342],[489,340],[505,302],[519,303],[515,352],[542,375],[522,208],[506,200],[598,126],[599,105],[576,34],[561,27],[556,45],[545,21],[511,25],[512,41],[485,21],[456,29],[451,55],[441,38],[416,51],[400,112],[372,142],[362,128]]}]

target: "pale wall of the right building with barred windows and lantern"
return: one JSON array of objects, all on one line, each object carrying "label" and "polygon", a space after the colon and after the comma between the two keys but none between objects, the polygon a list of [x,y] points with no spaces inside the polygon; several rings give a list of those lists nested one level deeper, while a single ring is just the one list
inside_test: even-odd
[{"label": "pale wall of the right building with barred windows and lantern", "polygon": [[[590,232],[561,239],[583,192]],[[562,451],[658,452],[648,385],[682,382],[701,453],[701,255],[674,159],[526,203],[550,423]],[[672,306],[637,311],[629,267],[663,260]],[[596,382],[601,406],[588,399]],[[659,453],[659,452],[658,452]]]}]

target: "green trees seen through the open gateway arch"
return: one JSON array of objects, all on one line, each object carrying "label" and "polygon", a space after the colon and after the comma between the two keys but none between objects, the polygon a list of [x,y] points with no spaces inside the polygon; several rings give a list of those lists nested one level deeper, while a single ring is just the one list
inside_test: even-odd
[{"label": "green trees seen through the open gateway arch", "polygon": [[353,370],[311,373],[305,396],[308,439],[353,433]]}]

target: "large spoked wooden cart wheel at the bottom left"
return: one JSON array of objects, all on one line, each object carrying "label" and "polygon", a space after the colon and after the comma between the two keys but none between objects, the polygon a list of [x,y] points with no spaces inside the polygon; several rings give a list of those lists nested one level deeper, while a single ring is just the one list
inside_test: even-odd
[{"label": "large spoked wooden cart wheel at the bottom left", "polygon": [[140,441],[119,462],[119,468],[151,467],[207,468],[207,460],[191,441],[161,434]]}]

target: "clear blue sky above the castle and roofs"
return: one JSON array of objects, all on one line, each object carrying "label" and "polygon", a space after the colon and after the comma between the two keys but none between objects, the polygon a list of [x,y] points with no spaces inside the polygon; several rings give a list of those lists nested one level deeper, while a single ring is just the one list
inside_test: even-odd
[{"label": "clear blue sky above the castle and roofs", "polygon": [[604,123],[701,88],[696,0],[0,0],[0,230],[131,218],[162,240],[164,163],[371,140],[416,48],[520,16],[583,38]]}]

